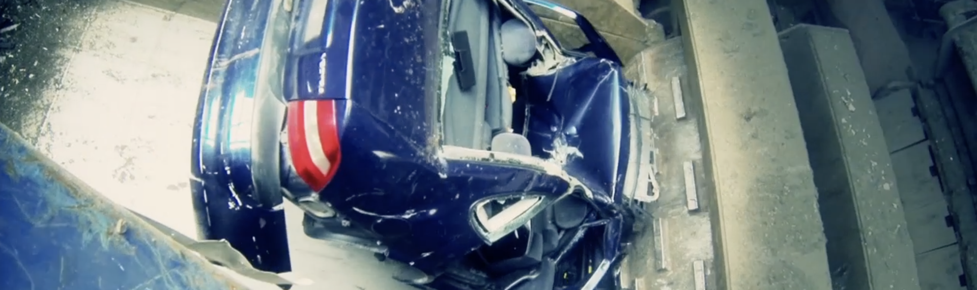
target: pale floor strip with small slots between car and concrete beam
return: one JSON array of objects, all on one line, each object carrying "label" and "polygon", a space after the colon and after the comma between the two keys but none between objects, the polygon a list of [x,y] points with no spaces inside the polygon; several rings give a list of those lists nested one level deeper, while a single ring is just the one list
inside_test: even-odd
[{"label": "pale floor strip with small slots between car and concrete beam", "polygon": [[[643,51],[627,75],[647,86],[652,105],[642,112],[653,128],[643,143],[655,148],[653,168],[658,196],[645,205],[651,217],[638,220],[642,230],[622,272],[629,271],[633,289],[715,289],[711,203],[702,167],[702,149],[696,112],[686,103],[688,69],[679,38]],[[689,100],[689,101],[686,101]],[[639,110],[642,108],[639,108]],[[687,172],[688,171],[688,172]],[[624,279],[624,278],[622,278]],[[630,286],[629,279],[625,286]],[[704,287],[704,288],[703,288]]]}]

